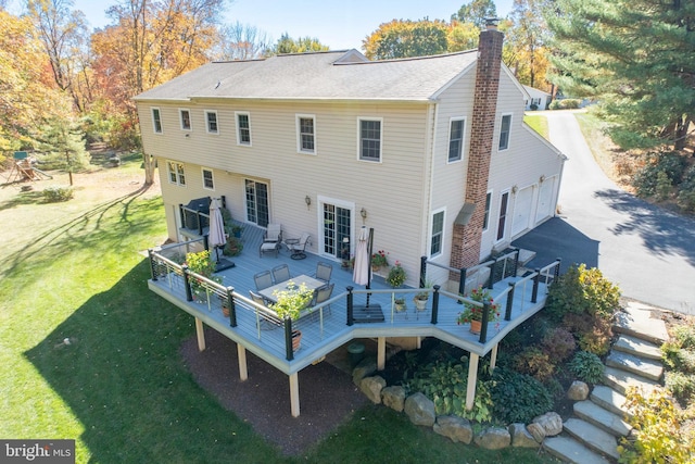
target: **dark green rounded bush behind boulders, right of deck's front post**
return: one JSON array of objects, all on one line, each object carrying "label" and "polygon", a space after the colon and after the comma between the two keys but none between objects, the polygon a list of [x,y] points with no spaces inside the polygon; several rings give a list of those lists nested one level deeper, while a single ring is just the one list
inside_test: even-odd
[{"label": "dark green rounded bush behind boulders, right of deck's front post", "polygon": [[495,418],[528,424],[553,409],[549,391],[536,379],[504,367],[492,375],[490,396]]}]

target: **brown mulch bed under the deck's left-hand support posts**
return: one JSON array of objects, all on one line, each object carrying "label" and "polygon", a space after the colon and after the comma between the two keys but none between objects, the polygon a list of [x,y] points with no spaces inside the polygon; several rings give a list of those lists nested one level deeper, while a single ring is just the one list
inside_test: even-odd
[{"label": "brown mulch bed under the deck's left-hand support posts", "polygon": [[241,381],[237,344],[210,328],[205,341],[203,352],[195,337],[181,347],[195,380],[285,454],[301,453],[369,402],[349,374],[321,362],[300,371],[301,414],[292,417],[287,375],[247,351],[249,379]]}]

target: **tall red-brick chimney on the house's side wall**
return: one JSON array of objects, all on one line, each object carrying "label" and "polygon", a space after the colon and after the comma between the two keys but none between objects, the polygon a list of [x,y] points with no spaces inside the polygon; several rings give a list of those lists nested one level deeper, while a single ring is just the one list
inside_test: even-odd
[{"label": "tall red-brick chimney on the house's side wall", "polygon": [[497,30],[497,20],[485,20],[485,23],[478,45],[465,205],[456,217],[452,235],[451,266],[457,268],[475,266],[480,262],[485,216],[504,41],[504,34]]}]

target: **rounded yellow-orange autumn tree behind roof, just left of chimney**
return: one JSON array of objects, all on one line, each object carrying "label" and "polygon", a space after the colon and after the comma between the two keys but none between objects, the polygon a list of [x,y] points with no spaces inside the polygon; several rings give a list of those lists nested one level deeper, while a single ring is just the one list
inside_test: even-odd
[{"label": "rounded yellow-orange autumn tree behind roof, just left of chimney", "polygon": [[440,20],[383,23],[363,41],[365,55],[370,60],[426,57],[447,51],[448,25]]}]

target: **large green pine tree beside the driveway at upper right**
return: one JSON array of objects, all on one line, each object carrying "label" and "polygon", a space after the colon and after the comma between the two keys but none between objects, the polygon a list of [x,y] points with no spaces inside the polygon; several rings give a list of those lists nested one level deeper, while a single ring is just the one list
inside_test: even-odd
[{"label": "large green pine tree beside the driveway at upper right", "polygon": [[622,148],[682,150],[695,112],[695,3],[556,0],[553,80],[601,101]]}]

